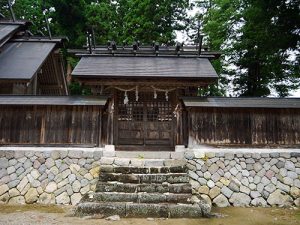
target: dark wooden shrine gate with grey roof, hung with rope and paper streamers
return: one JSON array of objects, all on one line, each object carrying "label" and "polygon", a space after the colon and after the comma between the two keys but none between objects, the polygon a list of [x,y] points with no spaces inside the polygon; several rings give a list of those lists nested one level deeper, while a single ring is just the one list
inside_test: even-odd
[{"label": "dark wooden shrine gate with grey roof, hung with rope and paper streamers", "polygon": [[196,47],[98,46],[72,72],[94,95],[110,96],[107,135],[117,150],[174,150],[184,143],[181,96],[218,78],[218,53]]}]

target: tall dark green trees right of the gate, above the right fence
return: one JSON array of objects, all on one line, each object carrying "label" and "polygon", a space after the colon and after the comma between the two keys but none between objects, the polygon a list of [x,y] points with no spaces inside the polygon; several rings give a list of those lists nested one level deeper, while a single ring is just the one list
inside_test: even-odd
[{"label": "tall dark green trees right of the gate, above the right fence", "polygon": [[[299,0],[212,0],[204,31],[222,50],[223,73],[242,96],[299,87]],[[291,59],[295,58],[295,59]]]}]

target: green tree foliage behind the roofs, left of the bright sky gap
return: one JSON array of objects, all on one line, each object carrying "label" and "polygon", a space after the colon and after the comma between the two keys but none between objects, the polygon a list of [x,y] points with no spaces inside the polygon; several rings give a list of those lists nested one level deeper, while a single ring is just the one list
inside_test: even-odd
[{"label": "green tree foliage behind the roofs, left of the bright sky gap", "polygon": [[98,44],[174,43],[175,31],[186,27],[188,5],[187,0],[16,0],[13,7],[17,18],[34,22],[34,33],[46,30],[42,6],[53,9],[46,11],[52,33],[68,36],[69,46],[81,47],[90,30]]}]

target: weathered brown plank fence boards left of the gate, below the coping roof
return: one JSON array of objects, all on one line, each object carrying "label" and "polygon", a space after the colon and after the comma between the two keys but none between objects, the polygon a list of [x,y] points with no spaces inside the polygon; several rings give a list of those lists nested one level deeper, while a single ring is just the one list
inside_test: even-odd
[{"label": "weathered brown plank fence boards left of the gate, below the coping roof", "polygon": [[101,145],[99,106],[0,106],[0,144]]}]

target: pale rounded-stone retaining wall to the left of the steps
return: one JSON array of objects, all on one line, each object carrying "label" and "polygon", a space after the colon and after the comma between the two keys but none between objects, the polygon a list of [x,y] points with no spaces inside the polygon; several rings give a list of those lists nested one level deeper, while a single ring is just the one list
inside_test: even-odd
[{"label": "pale rounded-stone retaining wall to the left of the steps", "polygon": [[102,149],[5,149],[0,150],[0,202],[75,205],[96,188]]}]

